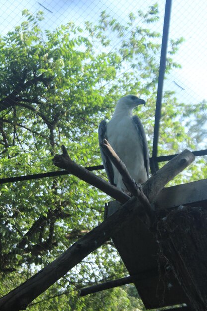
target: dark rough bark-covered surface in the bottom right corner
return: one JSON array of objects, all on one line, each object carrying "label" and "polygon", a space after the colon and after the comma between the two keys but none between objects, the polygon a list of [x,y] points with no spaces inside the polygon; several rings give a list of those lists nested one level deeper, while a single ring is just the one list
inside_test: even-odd
[{"label": "dark rough bark-covered surface in the bottom right corner", "polygon": [[194,311],[207,311],[207,209],[179,207],[157,223],[161,254]]}]

